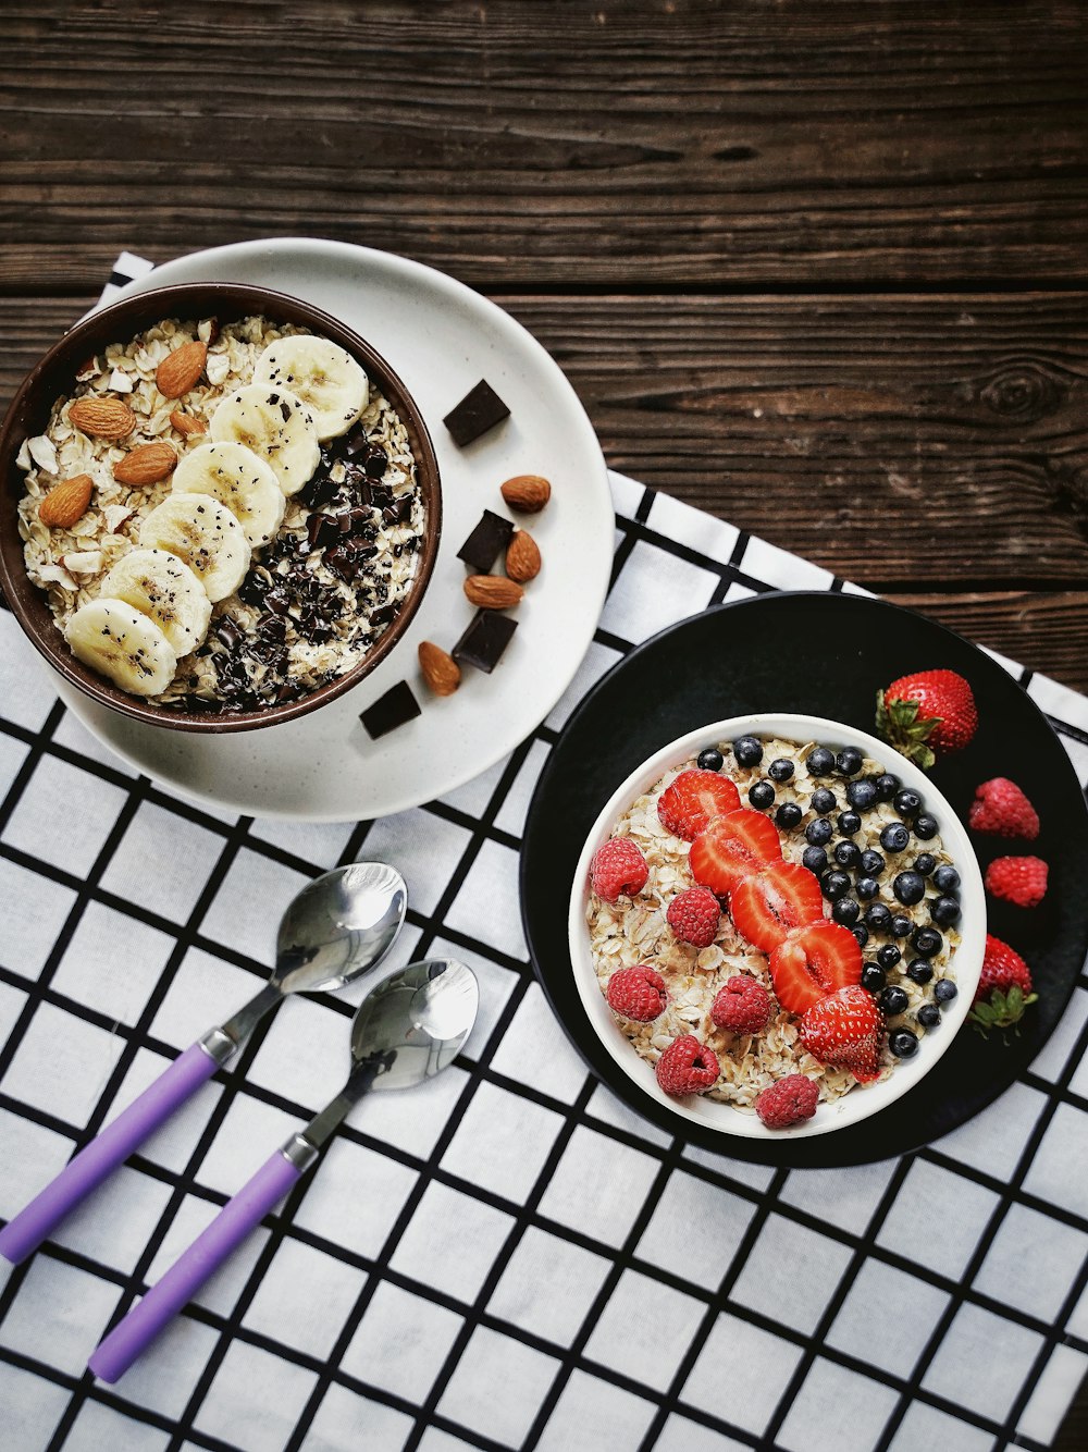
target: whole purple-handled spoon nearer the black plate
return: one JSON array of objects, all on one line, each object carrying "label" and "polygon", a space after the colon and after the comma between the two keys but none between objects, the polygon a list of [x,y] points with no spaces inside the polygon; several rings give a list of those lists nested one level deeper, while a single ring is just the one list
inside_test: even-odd
[{"label": "whole purple-handled spoon nearer the black plate", "polygon": [[364,1093],[411,1089],[451,1064],[471,1032],[479,989],[456,958],[393,973],[355,1011],[351,1073],[322,1111],[280,1146],[161,1281],[102,1342],[90,1369],[115,1382],[191,1300],[212,1272],[302,1178]]}]

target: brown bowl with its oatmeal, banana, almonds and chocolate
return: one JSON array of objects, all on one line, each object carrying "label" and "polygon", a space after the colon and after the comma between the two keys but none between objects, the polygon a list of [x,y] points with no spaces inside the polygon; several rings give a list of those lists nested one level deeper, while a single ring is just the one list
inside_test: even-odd
[{"label": "brown bowl with its oatmeal, banana, almonds and chocolate", "polygon": [[441,529],[426,425],[335,318],[231,283],[78,322],[0,433],[0,584],[87,696],[181,730],[315,710],[393,649]]}]

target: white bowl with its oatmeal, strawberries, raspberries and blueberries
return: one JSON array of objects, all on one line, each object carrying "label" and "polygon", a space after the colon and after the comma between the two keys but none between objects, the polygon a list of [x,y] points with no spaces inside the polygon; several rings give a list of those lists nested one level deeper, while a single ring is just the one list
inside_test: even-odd
[{"label": "white bowl with its oatmeal, strawberries, raspberries and blueberries", "polygon": [[807,1137],[940,1059],[985,899],[924,772],[837,722],[760,714],[688,733],[617,788],[569,941],[590,1024],[646,1093],[727,1135]]}]

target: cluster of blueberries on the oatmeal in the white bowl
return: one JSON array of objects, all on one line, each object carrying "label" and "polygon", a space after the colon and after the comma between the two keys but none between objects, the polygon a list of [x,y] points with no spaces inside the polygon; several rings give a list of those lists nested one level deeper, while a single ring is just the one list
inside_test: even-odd
[{"label": "cluster of blueberries on the oatmeal in the white bowl", "polygon": [[[714,755],[718,755],[715,752]],[[740,736],[733,742],[737,764],[746,768],[763,764],[763,742],[756,736]],[[702,764],[702,758],[699,758]],[[920,986],[931,983],[933,960],[944,948],[941,928],[955,926],[960,916],[959,873],[937,862],[926,849],[939,831],[937,819],[924,810],[920,793],[904,787],[892,772],[862,777],[865,758],[854,746],[833,752],[814,746],[805,758],[812,778],[820,784],[811,796],[812,816],[804,828],[804,865],[820,878],[824,897],[831,903],[831,918],[849,928],[863,950],[869,948],[862,971],[862,984],[878,995],[881,1012],[897,1018],[907,1012],[910,999],[889,974],[908,977]],[[720,770],[720,768],[712,768]],[[772,761],[766,774],[749,787],[749,802],[760,812],[770,812],[779,828],[794,831],[801,826],[805,812],[789,800],[775,807],[776,784],[794,777],[794,764],[785,758]],[[881,851],[862,849],[853,838],[862,829],[860,813],[881,803],[891,803],[898,820],[881,831]],[[897,912],[879,900],[883,883],[901,905]],[[911,909],[924,908],[927,921],[918,922]],[[885,941],[879,945],[876,938]],[[933,984],[933,1002],[921,1005],[915,1019],[920,1028],[933,1029],[940,1024],[940,1005],[956,998],[952,979]],[[918,1035],[911,1028],[897,1028],[888,1040],[899,1059],[917,1053]]]}]

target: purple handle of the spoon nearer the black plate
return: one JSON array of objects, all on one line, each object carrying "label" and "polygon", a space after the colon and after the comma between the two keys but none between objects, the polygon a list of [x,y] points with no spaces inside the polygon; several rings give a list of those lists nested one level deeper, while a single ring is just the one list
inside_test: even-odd
[{"label": "purple handle of the spoon nearer the black plate", "polygon": [[162,1327],[196,1295],[205,1281],[276,1205],[302,1175],[277,1150],[219,1211],[212,1224],[174,1262],[161,1281],[113,1327],[91,1359],[102,1381],[115,1382],[151,1345]]}]

